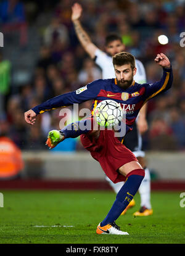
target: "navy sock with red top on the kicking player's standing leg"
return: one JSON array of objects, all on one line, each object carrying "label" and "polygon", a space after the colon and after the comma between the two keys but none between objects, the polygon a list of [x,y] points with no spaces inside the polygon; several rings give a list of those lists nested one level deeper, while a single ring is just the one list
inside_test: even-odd
[{"label": "navy sock with red top on the kicking player's standing leg", "polygon": [[121,212],[125,210],[139,189],[139,186],[144,178],[144,170],[133,170],[126,175],[126,178],[127,180],[125,184],[118,192],[116,200],[107,216],[101,222],[101,226],[105,226],[108,223],[113,223],[113,221],[117,220],[117,218],[120,216]]}]

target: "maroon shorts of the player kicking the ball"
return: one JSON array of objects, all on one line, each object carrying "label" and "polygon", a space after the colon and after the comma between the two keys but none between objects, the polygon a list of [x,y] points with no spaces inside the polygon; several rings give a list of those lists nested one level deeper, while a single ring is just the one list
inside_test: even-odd
[{"label": "maroon shorts of the player kicking the ball", "polygon": [[80,138],[84,148],[91,152],[92,157],[100,163],[113,183],[126,180],[125,176],[118,173],[118,168],[125,163],[138,162],[134,154],[118,141],[113,131],[100,131],[97,139],[94,139],[91,133],[82,134]]}]

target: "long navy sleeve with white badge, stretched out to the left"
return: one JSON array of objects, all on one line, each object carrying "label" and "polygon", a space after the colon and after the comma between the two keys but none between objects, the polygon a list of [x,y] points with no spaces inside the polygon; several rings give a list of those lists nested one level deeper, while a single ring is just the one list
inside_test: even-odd
[{"label": "long navy sleeve with white badge, stretched out to the left", "polygon": [[70,93],[65,93],[57,97],[53,97],[48,101],[33,107],[33,111],[38,115],[42,114],[49,110],[54,110],[60,107],[66,107],[75,103],[82,103],[84,101],[89,101],[94,99],[101,89],[102,80],[96,80],[92,83],[89,83],[86,86],[83,86],[76,91]]}]

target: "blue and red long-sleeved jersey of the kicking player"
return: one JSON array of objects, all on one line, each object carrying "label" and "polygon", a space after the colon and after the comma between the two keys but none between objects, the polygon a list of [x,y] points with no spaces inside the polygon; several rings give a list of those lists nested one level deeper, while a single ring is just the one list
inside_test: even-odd
[{"label": "blue and red long-sleeved jersey of the kicking player", "polygon": [[138,116],[139,110],[149,99],[167,91],[173,82],[172,69],[163,68],[163,76],[160,81],[149,84],[138,84],[133,82],[133,85],[128,89],[122,89],[117,85],[116,78],[99,79],[92,81],[86,86],[83,86],[76,91],[62,94],[48,101],[33,107],[36,114],[42,114],[45,111],[57,109],[82,103],[93,99],[92,111],[96,105],[105,99],[113,99],[121,104],[123,113],[126,115],[127,130],[132,130],[133,123]]}]

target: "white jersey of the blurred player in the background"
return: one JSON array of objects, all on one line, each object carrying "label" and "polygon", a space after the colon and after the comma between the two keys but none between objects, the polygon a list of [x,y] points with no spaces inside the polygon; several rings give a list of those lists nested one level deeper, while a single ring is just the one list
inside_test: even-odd
[{"label": "white jersey of the blurred player in the background", "polygon": [[[102,78],[115,78],[112,57],[107,55],[105,52],[102,52],[100,49],[96,50],[95,56],[95,63],[102,69]],[[136,68],[137,72],[136,75],[134,75],[134,80],[136,83],[146,83],[146,72],[140,60],[136,60]]]}]

